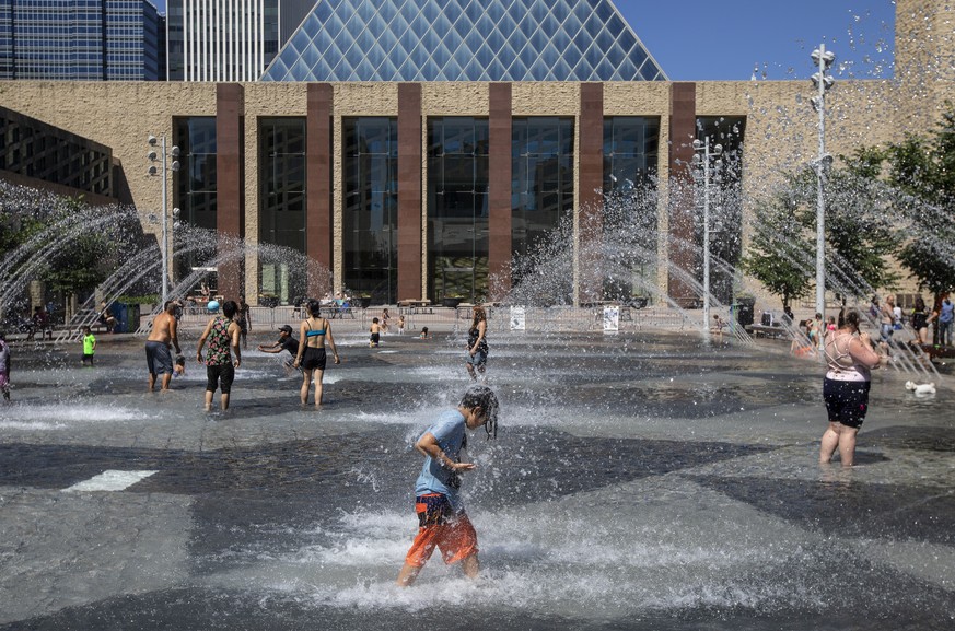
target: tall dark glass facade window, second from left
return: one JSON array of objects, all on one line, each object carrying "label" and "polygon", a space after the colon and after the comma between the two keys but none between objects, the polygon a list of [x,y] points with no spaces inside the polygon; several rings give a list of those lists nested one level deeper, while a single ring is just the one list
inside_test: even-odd
[{"label": "tall dark glass facade window, second from left", "polygon": [[305,119],[263,118],[258,131],[258,238],[288,248],[259,253],[259,300],[289,304],[306,288]]}]

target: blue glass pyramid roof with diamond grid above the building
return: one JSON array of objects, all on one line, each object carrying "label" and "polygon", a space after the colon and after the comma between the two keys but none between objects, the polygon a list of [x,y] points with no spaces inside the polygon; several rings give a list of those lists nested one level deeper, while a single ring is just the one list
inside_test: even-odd
[{"label": "blue glass pyramid roof with diamond grid above the building", "polygon": [[263,81],[654,81],[610,0],[318,0]]}]

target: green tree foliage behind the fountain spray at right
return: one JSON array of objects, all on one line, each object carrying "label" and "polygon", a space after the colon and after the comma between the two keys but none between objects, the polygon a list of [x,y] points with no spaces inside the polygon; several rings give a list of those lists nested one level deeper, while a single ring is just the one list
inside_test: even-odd
[{"label": "green tree foliage behind the fountain spray at right", "polygon": [[[955,108],[924,137],[861,148],[825,172],[827,284],[861,296],[894,289],[897,261],[920,289],[955,287]],[[743,265],[788,304],[815,271],[816,172],[785,174],[760,200]]]}]

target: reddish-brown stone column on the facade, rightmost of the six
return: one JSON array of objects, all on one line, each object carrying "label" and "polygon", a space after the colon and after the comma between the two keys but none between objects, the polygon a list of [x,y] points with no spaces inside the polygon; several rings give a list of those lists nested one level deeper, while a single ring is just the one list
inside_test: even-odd
[{"label": "reddish-brown stone column on the facade, rightmost of the six", "polygon": [[[669,92],[669,236],[667,258],[671,265],[690,273],[697,257],[687,247],[674,245],[682,239],[694,241],[694,186],[688,168],[694,157],[692,141],[697,136],[697,85],[674,83]],[[677,304],[687,305],[696,292],[673,271],[668,271],[667,293]]]}]

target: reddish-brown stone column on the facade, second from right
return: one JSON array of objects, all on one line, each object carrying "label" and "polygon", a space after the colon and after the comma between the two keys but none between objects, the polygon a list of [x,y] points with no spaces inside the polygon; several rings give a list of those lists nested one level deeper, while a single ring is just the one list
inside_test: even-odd
[{"label": "reddish-brown stone column on the facade, second from right", "polygon": [[578,287],[577,301],[601,300],[603,274],[599,270],[599,241],[603,232],[604,186],[604,86],[580,86],[580,172],[578,174]]}]

